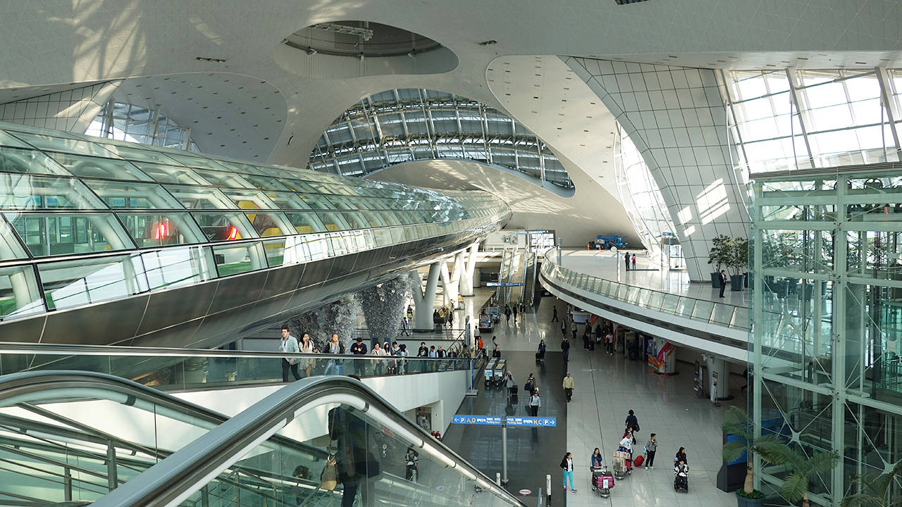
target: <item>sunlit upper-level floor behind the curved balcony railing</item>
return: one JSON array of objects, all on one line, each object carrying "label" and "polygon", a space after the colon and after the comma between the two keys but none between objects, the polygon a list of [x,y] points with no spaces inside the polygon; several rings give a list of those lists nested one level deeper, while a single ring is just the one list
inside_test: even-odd
[{"label": "sunlit upper-level floor behind the curved balcony railing", "polygon": [[604,280],[618,281],[645,289],[689,296],[698,300],[711,300],[741,307],[749,306],[749,290],[734,292],[727,287],[723,293],[724,297],[720,298],[720,290],[714,289],[710,283],[690,283],[686,270],[662,272],[657,264],[649,264],[649,260],[645,258],[644,254],[637,254],[636,261],[639,269],[626,271],[622,252],[612,254],[607,251],[565,249],[561,253],[561,263],[565,268],[575,272],[583,272]]}]

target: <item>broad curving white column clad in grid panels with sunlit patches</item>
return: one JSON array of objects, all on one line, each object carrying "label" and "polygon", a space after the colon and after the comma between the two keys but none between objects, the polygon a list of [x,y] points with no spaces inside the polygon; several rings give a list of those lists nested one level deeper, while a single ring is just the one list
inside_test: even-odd
[{"label": "broad curving white column clad in grid panels with sunlit patches", "polygon": [[712,69],[566,58],[642,154],[676,227],[692,281],[709,281],[716,235],[746,237],[745,181]]}]

